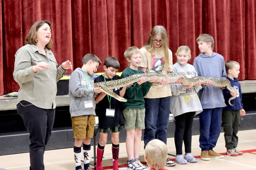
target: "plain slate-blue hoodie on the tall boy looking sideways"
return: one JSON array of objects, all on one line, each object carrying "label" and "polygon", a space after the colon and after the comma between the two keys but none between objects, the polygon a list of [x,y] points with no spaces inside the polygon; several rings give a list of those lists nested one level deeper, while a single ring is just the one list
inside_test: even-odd
[{"label": "plain slate-blue hoodie on the tall boy looking sideways", "polygon": [[[199,54],[194,60],[194,67],[198,76],[215,77],[217,79],[226,78],[225,61],[222,55],[212,53],[211,56],[204,53]],[[203,109],[213,109],[225,107],[225,100],[222,89],[216,86],[204,86],[198,92]]]}]

